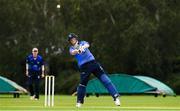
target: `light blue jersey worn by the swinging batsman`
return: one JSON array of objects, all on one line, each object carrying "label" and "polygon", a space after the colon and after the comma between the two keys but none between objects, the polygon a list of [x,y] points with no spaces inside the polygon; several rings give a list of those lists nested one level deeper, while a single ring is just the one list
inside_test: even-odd
[{"label": "light blue jersey worn by the swinging batsman", "polygon": [[[83,46],[85,44],[89,44],[89,43],[86,41],[80,41],[79,42],[80,46]],[[75,50],[75,47],[71,46],[69,48],[69,52],[71,53],[73,50]],[[83,65],[89,61],[95,60],[93,54],[90,52],[90,50],[88,48],[86,48],[84,52],[82,52],[80,54],[76,54],[74,56],[78,62],[78,66],[81,66],[81,65]]]}]

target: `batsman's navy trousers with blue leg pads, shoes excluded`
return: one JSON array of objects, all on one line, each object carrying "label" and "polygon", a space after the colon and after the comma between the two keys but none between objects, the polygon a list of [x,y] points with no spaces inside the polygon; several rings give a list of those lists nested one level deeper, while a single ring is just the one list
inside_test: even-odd
[{"label": "batsman's navy trousers with blue leg pads, shoes excluded", "polygon": [[77,103],[84,103],[86,86],[89,81],[89,76],[91,75],[91,73],[93,73],[94,76],[96,76],[101,81],[101,83],[106,87],[106,89],[111,94],[114,100],[119,96],[116,87],[111,82],[111,80],[109,79],[109,77],[107,76],[107,74],[105,73],[105,71],[97,61],[93,60],[87,62],[81,65],[79,68],[81,74],[80,74],[80,84],[77,88]]}]

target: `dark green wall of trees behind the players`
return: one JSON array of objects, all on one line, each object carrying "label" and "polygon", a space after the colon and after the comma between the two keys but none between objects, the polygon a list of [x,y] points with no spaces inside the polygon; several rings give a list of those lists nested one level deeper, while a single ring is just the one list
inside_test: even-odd
[{"label": "dark green wall of trees behind the players", "polygon": [[38,47],[57,92],[72,93],[79,77],[67,35],[74,32],[108,73],[151,76],[180,93],[179,0],[0,0],[0,15],[0,74],[20,84],[25,58]]}]

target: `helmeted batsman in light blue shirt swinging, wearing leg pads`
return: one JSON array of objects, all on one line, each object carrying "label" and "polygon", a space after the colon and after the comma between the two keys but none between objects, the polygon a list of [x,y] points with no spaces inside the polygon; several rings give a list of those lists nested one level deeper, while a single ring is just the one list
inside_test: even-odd
[{"label": "helmeted batsman in light blue shirt swinging, wearing leg pads", "polygon": [[114,99],[115,105],[120,106],[119,93],[102,66],[95,60],[95,57],[90,52],[89,43],[86,41],[79,41],[78,36],[74,33],[68,35],[68,41],[71,44],[69,52],[77,60],[80,69],[80,84],[77,88],[76,107],[79,108],[84,103],[86,85],[91,73],[93,73],[107,88]]}]

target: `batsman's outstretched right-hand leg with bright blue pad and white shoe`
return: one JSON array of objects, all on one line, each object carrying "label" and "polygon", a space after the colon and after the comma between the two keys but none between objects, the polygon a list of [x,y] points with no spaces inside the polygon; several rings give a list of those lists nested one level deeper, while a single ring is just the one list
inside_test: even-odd
[{"label": "batsman's outstretched right-hand leg with bright blue pad and white shoe", "polygon": [[118,99],[119,93],[118,93],[115,85],[112,83],[112,81],[107,76],[107,74],[105,73],[105,71],[103,70],[103,68],[101,67],[101,65],[99,63],[96,63],[94,66],[96,68],[94,69],[93,73],[103,83],[103,85],[107,88],[108,92],[113,97],[115,104],[119,106],[120,105],[120,101]]}]

